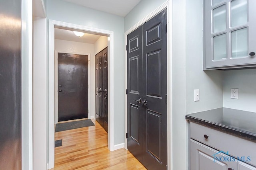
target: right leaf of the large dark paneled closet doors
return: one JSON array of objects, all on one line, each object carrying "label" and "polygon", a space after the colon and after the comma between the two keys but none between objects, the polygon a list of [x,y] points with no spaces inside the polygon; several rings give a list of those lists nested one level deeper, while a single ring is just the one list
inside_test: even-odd
[{"label": "right leaf of the large dark paneled closet doors", "polygon": [[142,100],[146,101],[144,165],[166,169],[167,165],[167,10],[143,25]]}]

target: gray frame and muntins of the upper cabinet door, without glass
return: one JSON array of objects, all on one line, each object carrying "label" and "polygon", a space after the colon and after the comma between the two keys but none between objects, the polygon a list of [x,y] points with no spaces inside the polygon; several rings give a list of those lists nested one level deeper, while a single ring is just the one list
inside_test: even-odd
[{"label": "gray frame and muntins of the upper cabinet door, without glass", "polygon": [[[253,16],[254,9],[256,7],[256,2],[254,0],[247,0],[247,8],[248,8],[248,22],[244,25],[239,25],[236,27],[230,26],[230,2],[232,0],[224,0],[220,4],[216,4],[211,6],[211,0],[203,1],[203,53],[204,53],[204,61],[203,67],[204,70],[208,69],[222,69],[222,68],[238,68],[238,67],[252,67],[253,64],[256,64],[256,55],[251,57],[249,55],[250,52],[256,52],[256,39],[253,38],[256,36],[254,30],[256,30],[256,23]],[[212,10],[226,4],[226,29],[224,31],[220,31],[217,33],[212,33]],[[245,57],[240,57],[237,59],[232,59],[232,49],[231,49],[231,32],[248,28],[248,54]],[[213,60],[213,37],[216,35],[226,34],[226,51],[227,58],[223,60],[214,61]],[[255,65],[254,65],[255,66]]]}]

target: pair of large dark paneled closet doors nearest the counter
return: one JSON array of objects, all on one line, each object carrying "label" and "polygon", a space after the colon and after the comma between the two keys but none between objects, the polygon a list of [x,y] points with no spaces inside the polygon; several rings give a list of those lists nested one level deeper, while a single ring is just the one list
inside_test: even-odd
[{"label": "pair of large dark paneled closet doors nearest the counter", "polygon": [[166,14],[127,36],[128,150],[150,170],[167,166]]}]

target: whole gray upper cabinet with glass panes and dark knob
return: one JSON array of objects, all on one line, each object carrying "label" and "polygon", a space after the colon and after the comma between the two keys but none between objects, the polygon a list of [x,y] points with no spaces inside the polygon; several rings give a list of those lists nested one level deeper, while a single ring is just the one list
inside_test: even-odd
[{"label": "whole gray upper cabinet with glass panes and dark knob", "polygon": [[204,70],[256,66],[256,0],[204,0]]}]

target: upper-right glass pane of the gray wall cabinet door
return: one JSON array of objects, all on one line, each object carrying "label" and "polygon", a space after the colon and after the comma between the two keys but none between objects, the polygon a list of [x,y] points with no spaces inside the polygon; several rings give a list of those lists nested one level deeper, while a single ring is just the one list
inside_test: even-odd
[{"label": "upper-right glass pane of the gray wall cabinet door", "polygon": [[247,23],[247,0],[232,0],[230,3],[231,27]]}]

